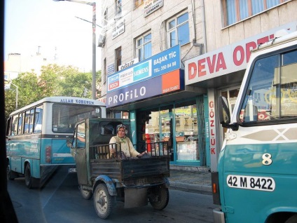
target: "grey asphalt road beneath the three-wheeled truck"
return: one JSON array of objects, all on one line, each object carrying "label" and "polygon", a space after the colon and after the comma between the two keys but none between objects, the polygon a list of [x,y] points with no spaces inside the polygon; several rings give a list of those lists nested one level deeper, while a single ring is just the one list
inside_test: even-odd
[{"label": "grey asphalt road beneath the three-wheeled truck", "polygon": [[85,200],[78,190],[76,174],[60,169],[43,189],[27,189],[25,179],[8,181],[8,192],[20,223],[76,222],[213,222],[212,196],[170,189],[170,201],[162,211],[151,205],[123,208],[118,202],[109,219],[97,217],[92,198]]}]

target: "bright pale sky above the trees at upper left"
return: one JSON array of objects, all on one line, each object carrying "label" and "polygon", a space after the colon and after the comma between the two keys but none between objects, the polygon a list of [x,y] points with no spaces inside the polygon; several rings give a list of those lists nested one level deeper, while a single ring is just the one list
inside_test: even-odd
[{"label": "bright pale sky above the trees at upper left", "polygon": [[[88,1],[88,0],[85,0]],[[101,24],[99,0],[97,25]],[[36,55],[92,70],[92,6],[70,1],[5,0],[4,59],[8,53]],[[96,44],[101,32],[96,27]],[[40,46],[40,47],[39,47]],[[101,69],[101,48],[97,48],[97,70]]]}]

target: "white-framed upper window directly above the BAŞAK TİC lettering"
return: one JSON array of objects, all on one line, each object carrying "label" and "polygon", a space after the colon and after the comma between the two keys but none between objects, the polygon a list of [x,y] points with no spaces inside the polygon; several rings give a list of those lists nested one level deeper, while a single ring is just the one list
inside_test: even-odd
[{"label": "white-framed upper window directly above the BA\u015eAK T\u0130C lettering", "polygon": [[190,30],[188,28],[188,13],[178,15],[167,23],[170,47],[190,42]]}]

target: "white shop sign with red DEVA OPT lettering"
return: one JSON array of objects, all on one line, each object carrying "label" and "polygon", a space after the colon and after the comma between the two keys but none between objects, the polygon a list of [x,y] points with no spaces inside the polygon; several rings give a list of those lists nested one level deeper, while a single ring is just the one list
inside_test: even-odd
[{"label": "white shop sign with red DEVA OPT lettering", "polygon": [[244,39],[244,41],[233,43],[186,60],[186,85],[246,69],[247,62],[249,62],[251,56],[251,50],[261,43],[263,44],[274,39],[275,32],[280,29],[296,30],[296,22],[291,22],[282,27]]}]

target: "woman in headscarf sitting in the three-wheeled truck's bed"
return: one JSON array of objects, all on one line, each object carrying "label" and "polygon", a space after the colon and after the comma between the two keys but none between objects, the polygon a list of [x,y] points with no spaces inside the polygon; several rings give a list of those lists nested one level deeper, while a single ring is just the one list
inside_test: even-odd
[{"label": "woman in headscarf sitting in the three-wheeled truck's bed", "polygon": [[127,127],[120,124],[116,127],[117,130],[117,135],[111,137],[111,140],[109,141],[110,147],[110,153],[111,153],[111,158],[116,158],[116,144],[120,143],[120,149],[121,149],[121,154],[120,158],[130,158],[130,157],[145,157],[148,156],[147,152],[144,151],[143,153],[139,153],[134,149],[133,144],[129,137],[127,137]]}]

